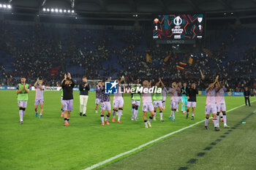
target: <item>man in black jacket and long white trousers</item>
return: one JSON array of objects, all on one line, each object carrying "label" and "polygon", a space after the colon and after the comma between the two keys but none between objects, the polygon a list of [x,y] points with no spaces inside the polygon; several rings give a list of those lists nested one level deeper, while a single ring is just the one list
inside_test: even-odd
[{"label": "man in black jacket and long white trousers", "polygon": [[88,93],[90,85],[87,82],[86,76],[83,76],[83,82],[79,85],[80,90],[80,116],[86,116],[86,105],[88,101]]}]

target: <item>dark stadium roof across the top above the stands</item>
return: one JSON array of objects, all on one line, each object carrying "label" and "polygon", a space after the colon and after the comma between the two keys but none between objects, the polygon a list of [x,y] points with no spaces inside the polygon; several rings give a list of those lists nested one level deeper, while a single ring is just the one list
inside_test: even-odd
[{"label": "dark stadium roof across the top above the stands", "polygon": [[[0,0],[1,1],[1,0]],[[155,13],[205,12],[208,18],[256,16],[256,0],[6,0],[17,14],[37,15],[42,8],[75,9],[81,18],[150,18]],[[242,14],[241,14],[242,13]],[[217,15],[219,14],[219,15]],[[132,18],[131,18],[132,19]],[[134,18],[133,18],[134,19]]]}]

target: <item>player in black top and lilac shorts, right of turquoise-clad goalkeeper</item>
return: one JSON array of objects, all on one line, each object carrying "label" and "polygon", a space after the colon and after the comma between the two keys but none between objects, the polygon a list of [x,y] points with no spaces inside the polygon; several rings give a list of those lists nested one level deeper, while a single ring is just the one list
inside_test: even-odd
[{"label": "player in black top and lilac shorts, right of turquoise-clad goalkeeper", "polygon": [[197,106],[197,94],[198,90],[195,87],[195,83],[192,83],[191,88],[187,90],[187,116],[186,119],[189,117],[189,108],[192,107],[192,117],[191,120],[194,120],[195,115],[195,107]]}]

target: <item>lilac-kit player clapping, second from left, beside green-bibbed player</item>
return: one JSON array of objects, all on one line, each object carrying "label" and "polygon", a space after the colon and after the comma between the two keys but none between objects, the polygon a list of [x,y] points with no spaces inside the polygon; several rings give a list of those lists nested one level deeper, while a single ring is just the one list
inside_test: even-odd
[{"label": "lilac-kit player clapping, second from left, beside green-bibbed player", "polygon": [[38,115],[37,107],[40,104],[39,118],[41,118],[43,108],[44,108],[45,85],[42,85],[42,80],[39,80],[39,78],[37,78],[37,81],[34,83],[34,88],[36,89],[36,98],[34,100],[34,111],[36,112],[35,117],[37,117],[37,115]]}]

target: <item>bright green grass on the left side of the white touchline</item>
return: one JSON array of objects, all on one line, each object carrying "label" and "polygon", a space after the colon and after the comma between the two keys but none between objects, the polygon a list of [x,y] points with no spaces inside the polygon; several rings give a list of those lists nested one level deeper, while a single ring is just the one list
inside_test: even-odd
[{"label": "bright green grass on the left side of the white touchline", "polygon": [[[0,90],[0,96],[0,169],[85,169],[171,131],[203,120],[205,117],[206,99],[204,96],[200,96],[197,100],[194,122],[186,120],[181,112],[176,112],[176,122],[170,122],[167,119],[170,116],[170,98],[167,98],[167,109],[163,112],[165,122],[160,123],[159,114],[157,114],[157,121],[152,123],[153,127],[145,129],[141,108],[139,110],[140,120],[138,122],[129,120],[131,101],[130,97],[126,96],[124,98],[124,116],[121,117],[122,123],[110,123],[110,125],[102,126],[99,113],[95,114],[94,112],[95,93],[89,95],[88,117],[80,117],[78,115],[79,94],[75,92],[74,111],[69,120],[70,125],[64,127],[64,120],[60,117],[59,92],[45,91],[44,114],[42,119],[39,119],[34,117],[35,93],[31,91],[23,118],[24,124],[20,125],[15,91]],[[227,109],[232,109],[244,104],[244,98],[227,97],[226,103]],[[244,115],[246,114],[247,112],[244,113]],[[231,115],[228,117],[228,121],[232,121]],[[202,127],[203,124],[198,125],[198,128]],[[197,135],[206,133],[197,131],[197,128],[191,128],[189,131],[195,131]],[[170,139],[176,139],[189,131],[170,137]],[[184,146],[192,147],[186,139],[182,141]],[[194,145],[197,145],[198,142],[202,141],[195,138]],[[183,150],[183,147],[176,149],[178,150],[178,148]],[[149,160],[154,158],[155,156],[152,156]]]}]

